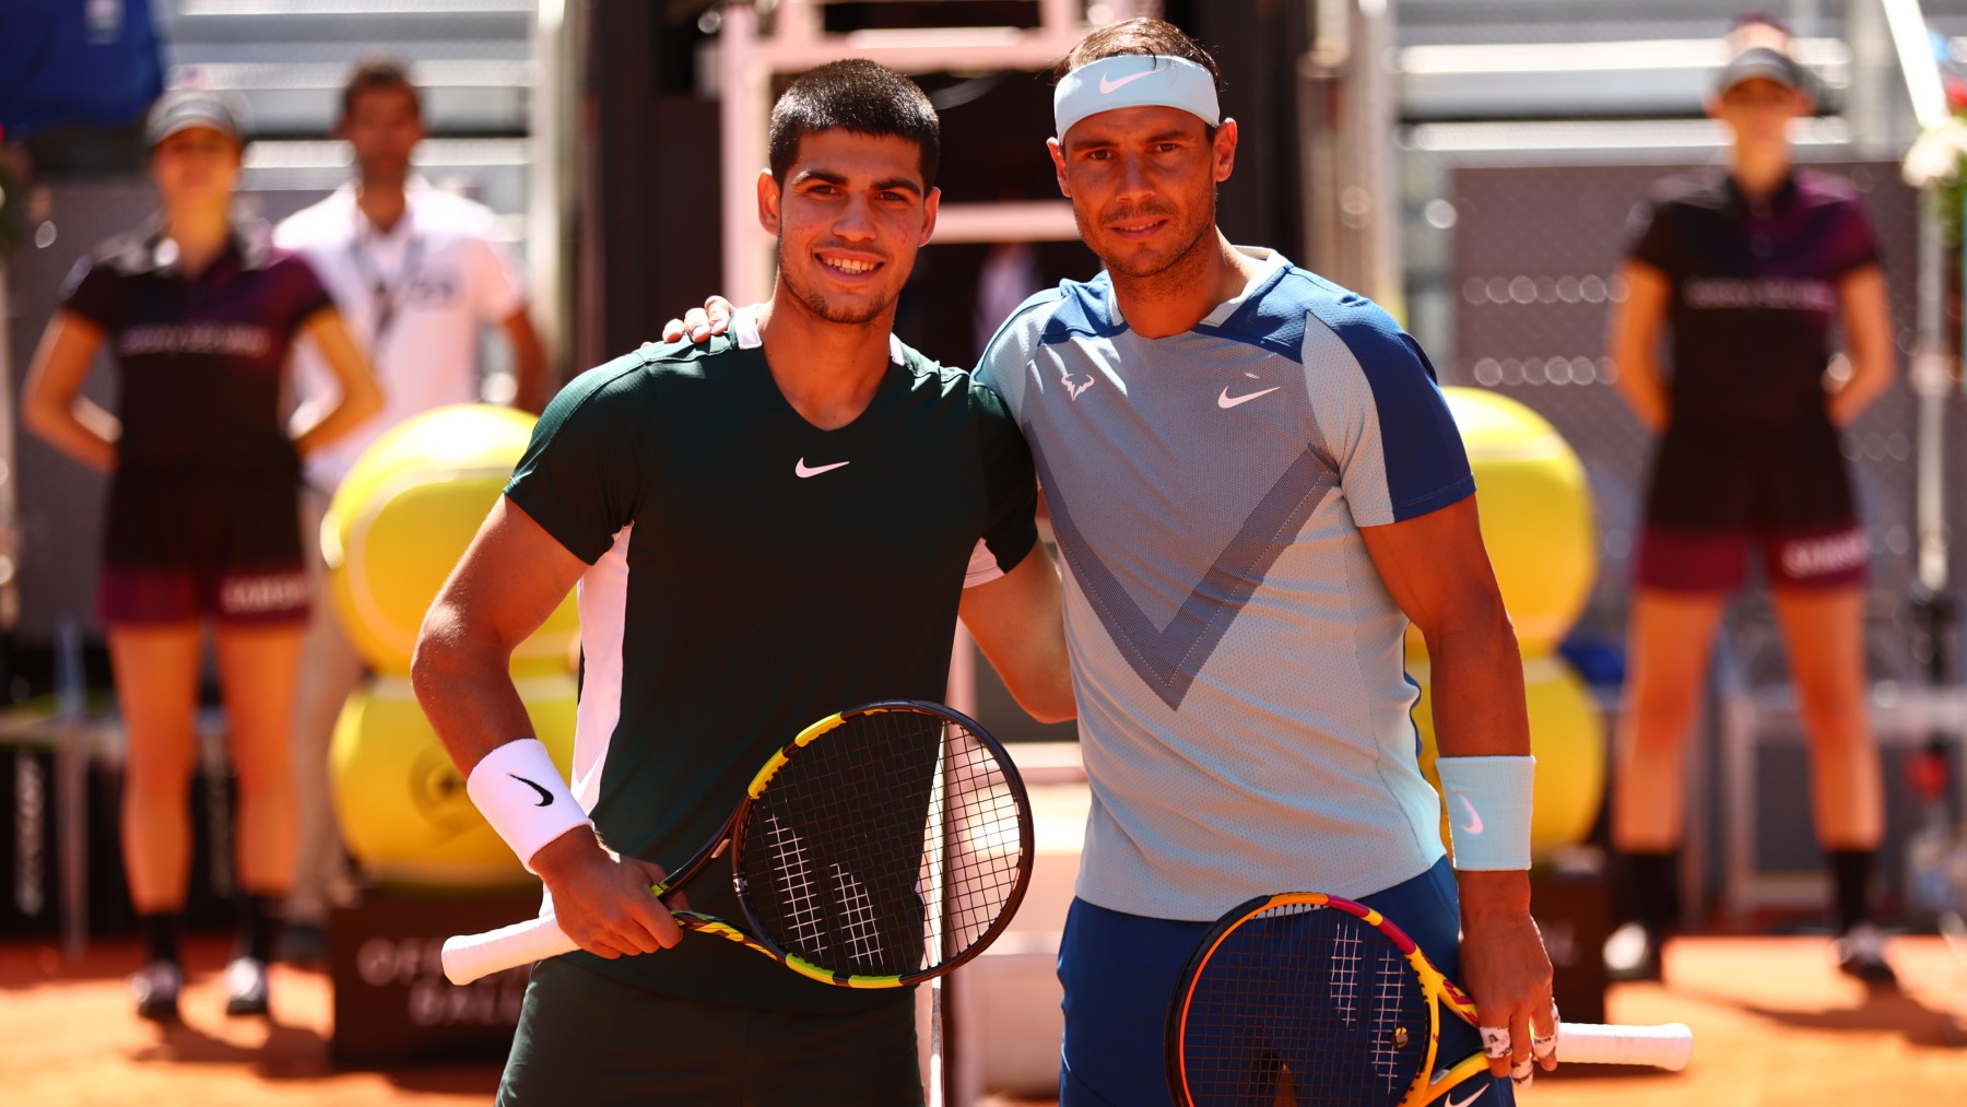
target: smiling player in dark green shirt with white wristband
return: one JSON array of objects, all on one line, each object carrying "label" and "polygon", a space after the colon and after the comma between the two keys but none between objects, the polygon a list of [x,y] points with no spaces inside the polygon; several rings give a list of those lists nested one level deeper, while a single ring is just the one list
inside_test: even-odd
[{"label": "smiling player in dark green shirt with white wristband", "polygon": [[[889,332],[936,142],[887,69],[801,77],[757,183],[771,299],[568,383],[425,617],[417,696],[584,950],[535,965],[500,1103],[921,1103],[913,995],[679,934],[649,885],[812,720],[942,698],[958,615],[1027,710],[1072,714],[1031,452],[993,393]],[[568,787],[507,657],[576,584]],[[718,873],[690,899],[738,910]]]}]

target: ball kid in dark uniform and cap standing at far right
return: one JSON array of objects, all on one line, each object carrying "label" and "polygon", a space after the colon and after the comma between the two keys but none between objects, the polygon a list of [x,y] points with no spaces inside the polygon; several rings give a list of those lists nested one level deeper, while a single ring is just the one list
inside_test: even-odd
[{"label": "ball kid in dark uniform and cap standing at far right", "polygon": [[[1865,885],[1882,834],[1865,718],[1867,539],[1841,429],[1892,381],[1890,311],[1855,189],[1790,165],[1806,73],[1758,24],[1709,112],[1733,136],[1725,171],[1660,185],[1635,212],[1611,352],[1619,391],[1660,440],[1637,551],[1633,692],[1621,728],[1613,844],[1642,918],[1615,967],[1658,971],[1672,922],[1686,735],[1727,598],[1757,556],[1812,743],[1818,840],[1837,885],[1839,963],[1890,979]],[[1831,376],[1841,326],[1849,374]],[[1672,372],[1654,364],[1672,334]]]}]

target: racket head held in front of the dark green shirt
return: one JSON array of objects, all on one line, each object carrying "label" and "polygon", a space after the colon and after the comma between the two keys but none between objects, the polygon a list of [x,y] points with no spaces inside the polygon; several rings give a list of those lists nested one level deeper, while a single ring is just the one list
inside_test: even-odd
[{"label": "racket head held in front of the dark green shirt", "polygon": [[732,883],[757,946],[808,977],[905,987],[984,952],[1031,883],[1031,798],[976,720],[881,700],[820,720],[751,781]]}]

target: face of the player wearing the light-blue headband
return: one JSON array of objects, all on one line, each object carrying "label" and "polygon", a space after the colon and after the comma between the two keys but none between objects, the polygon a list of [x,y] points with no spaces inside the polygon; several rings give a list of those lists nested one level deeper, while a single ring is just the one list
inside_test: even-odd
[{"label": "face of the player wearing the light-blue headband", "polygon": [[1235,120],[1212,140],[1180,108],[1117,108],[1072,124],[1048,146],[1080,238],[1115,275],[1157,277],[1214,242],[1216,185],[1235,165]]}]

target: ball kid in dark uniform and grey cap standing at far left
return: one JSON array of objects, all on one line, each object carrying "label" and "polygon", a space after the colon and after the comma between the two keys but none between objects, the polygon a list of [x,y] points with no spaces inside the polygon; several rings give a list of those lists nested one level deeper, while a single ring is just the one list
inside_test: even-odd
[{"label": "ball kid in dark uniform and grey cap standing at far left", "polygon": [[[268,903],[293,873],[287,731],[307,613],[299,458],[352,431],[380,393],[307,262],[232,224],[240,132],[230,106],[207,92],[165,94],[149,144],[161,218],[77,265],[22,409],[31,433],[112,474],[96,602],[130,737],[124,867],[149,942],[149,965],[132,979],[138,1013],[177,1015],[175,918],[191,859],[201,621],[210,617],[240,785],[244,903],[228,1011],[254,1015],[268,1011]],[[301,332],[332,350],[342,399],[289,431],[283,366]],[[81,395],[104,344],[118,415]]]}]

